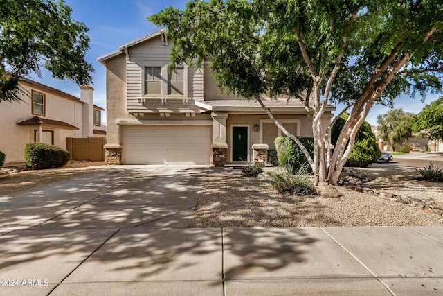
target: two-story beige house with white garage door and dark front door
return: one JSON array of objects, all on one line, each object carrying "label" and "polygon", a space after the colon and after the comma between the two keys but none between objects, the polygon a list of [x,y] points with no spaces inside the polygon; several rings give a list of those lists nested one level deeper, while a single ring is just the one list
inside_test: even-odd
[{"label": "two-story beige house with white garage door and dark front door", "polygon": [[[186,65],[168,74],[163,31],[128,42],[98,60],[106,67],[108,164],[235,164],[266,161],[281,132],[254,100],[223,94],[210,70]],[[297,100],[266,106],[289,132],[312,137]],[[324,124],[334,107],[327,107]]]}]

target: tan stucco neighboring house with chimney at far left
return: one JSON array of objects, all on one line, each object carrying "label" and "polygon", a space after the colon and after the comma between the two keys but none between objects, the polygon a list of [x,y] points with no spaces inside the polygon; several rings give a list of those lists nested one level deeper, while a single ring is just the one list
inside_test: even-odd
[{"label": "tan stucco neighboring house with chimney at far left", "polygon": [[80,98],[29,79],[19,87],[22,101],[0,103],[0,151],[6,154],[6,166],[24,162],[26,143],[66,149],[69,137],[106,137],[104,109],[93,105],[92,87],[80,87]]}]

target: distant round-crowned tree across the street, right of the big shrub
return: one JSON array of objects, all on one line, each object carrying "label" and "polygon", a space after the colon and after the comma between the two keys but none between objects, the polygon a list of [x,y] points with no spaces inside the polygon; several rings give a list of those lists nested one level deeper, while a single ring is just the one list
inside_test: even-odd
[{"label": "distant round-crowned tree across the street, right of the big shrub", "polygon": [[408,137],[413,133],[413,116],[414,114],[404,112],[401,108],[377,115],[380,138],[392,148],[408,141]]}]

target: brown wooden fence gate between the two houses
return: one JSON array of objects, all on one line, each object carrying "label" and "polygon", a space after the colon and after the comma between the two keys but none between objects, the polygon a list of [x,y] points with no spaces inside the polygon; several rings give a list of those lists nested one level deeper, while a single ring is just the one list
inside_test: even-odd
[{"label": "brown wooden fence gate between the two houses", "polygon": [[72,160],[105,160],[106,138],[66,138],[66,150],[71,153]]}]

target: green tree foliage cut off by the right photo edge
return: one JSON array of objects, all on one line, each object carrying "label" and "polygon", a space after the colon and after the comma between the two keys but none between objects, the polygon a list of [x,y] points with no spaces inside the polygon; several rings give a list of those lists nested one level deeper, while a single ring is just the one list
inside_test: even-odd
[{"label": "green tree foliage cut off by the right photo edge", "polygon": [[443,139],[443,96],[426,105],[415,116],[413,128],[416,132],[421,132],[422,137]]}]

